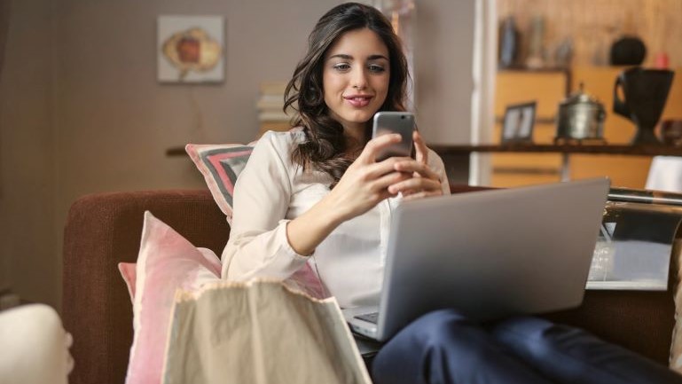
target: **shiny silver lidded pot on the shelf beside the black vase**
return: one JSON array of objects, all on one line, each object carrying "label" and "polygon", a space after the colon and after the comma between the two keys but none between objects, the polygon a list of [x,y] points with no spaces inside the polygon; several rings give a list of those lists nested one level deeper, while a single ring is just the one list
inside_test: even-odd
[{"label": "shiny silver lidded pot on the shelf beside the black vase", "polygon": [[604,119],[607,113],[604,105],[583,90],[579,90],[559,103],[557,130],[554,142],[558,141],[604,141]]}]

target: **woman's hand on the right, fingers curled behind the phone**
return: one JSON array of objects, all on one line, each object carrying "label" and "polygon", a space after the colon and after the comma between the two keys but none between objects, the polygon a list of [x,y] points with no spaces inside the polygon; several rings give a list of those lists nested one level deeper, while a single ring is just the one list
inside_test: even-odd
[{"label": "woman's hand on the right, fingers curled behind the phone", "polygon": [[424,144],[424,139],[417,130],[412,134],[412,138],[416,159],[405,158],[404,161],[398,161],[395,165],[396,171],[412,173],[412,178],[390,185],[388,192],[402,192],[404,200],[442,195],[443,186],[440,176],[428,167],[428,149]]}]

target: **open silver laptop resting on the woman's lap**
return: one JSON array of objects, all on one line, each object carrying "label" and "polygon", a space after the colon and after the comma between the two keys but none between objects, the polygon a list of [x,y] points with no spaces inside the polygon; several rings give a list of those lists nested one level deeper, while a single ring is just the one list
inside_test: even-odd
[{"label": "open silver laptop resting on the woman's lap", "polygon": [[406,201],[391,220],[379,308],[344,317],[386,341],[443,308],[490,320],[577,307],[608,188],[599,178]]}]

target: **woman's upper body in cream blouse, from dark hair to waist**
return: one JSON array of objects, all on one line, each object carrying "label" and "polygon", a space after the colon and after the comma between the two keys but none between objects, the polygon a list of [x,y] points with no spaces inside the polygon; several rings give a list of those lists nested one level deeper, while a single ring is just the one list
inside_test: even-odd
[{"label": "woman's upper body in cream blouse, from dark hair to waist", "polygon": [[343,4],[319,20],[286,89],[299,131],[269,132],[235,186],[223,276],[289,278],[310,263],[341,307],[376,305],[391,209],[449,193],[443,161],[375,161],[399,135],[368,140],[377,111],[403,111],[406,60],[386,18]]}]

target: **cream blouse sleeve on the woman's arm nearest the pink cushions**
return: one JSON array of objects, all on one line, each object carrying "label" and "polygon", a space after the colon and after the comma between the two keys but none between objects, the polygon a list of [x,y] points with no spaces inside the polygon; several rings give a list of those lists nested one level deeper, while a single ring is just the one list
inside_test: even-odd
[{"label": "cream blouse sleeve on the woman's arm nearest the pink cushions", "polygon": [[222,257],[225,279],[285,279],[307,262],[286,238],[291,141],[283,135],[291,137],[271,132],[261,137],[237,179],[230,239]]}]

